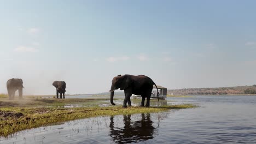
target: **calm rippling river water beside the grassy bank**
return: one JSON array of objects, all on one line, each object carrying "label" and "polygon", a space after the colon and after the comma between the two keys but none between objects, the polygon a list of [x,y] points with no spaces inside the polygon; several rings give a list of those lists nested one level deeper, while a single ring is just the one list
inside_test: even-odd
[{"label": "calm rippling river water beside the grassy bank", "polygon": [[20,131],[0,143],[256,143],[255,96],[168,100],[200,107],[79,119]]}]

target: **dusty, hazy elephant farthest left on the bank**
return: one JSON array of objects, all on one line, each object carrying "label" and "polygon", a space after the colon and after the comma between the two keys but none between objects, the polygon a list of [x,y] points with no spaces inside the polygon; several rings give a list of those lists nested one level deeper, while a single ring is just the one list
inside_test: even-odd
[{"label": "dusty, hazy elephant farthest left on the bank", "polygon": [[22,99],[22,88],[24,88],[22,79],[10,79],[7,81],[6,86],[9,99],[14,99],[14,95],[17,90],[19,90],[19,99]]}]

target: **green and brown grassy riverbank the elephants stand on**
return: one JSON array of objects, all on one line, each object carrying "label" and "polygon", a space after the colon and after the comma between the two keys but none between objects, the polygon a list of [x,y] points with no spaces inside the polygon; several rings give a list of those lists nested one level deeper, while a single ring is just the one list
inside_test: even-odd
[{"label": "green and brown grassy riverbank the elephants stand on", "polygon": [[[108,102],[106,101],[108,100]],[[195,105],[166,105],[158,107],[121,106],[100,107],[109,99],[0,99],[0,136],[16,131],[42,127],[59,122],[96,116],[110,116],[133,113],[152,113],[171,109],[187,109]],[[67,105],[82,105],[65,107]]]}]

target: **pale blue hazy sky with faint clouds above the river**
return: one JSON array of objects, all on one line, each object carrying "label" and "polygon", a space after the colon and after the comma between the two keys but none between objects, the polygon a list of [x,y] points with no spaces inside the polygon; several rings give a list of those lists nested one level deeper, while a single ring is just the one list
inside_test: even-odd
[{"label": "pale blue hazy sky with faint clouds above the river", "polygon": [[0,1],[0,93],[101,93],[119,74],[168,89],[256,84],[256,1]]}]

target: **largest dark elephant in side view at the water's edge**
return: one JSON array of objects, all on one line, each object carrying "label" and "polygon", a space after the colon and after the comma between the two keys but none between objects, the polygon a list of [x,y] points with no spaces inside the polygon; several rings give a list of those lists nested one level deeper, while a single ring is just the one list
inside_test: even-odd
[{"label": "largest dark elephant in side view at the water's edge", "polygon": [[[153,85],[155,85],[155,82],[150,79],[148,76],[144,75],[118,75],[115,76],[112,80],[112,86],[110,88],[110,103],[112,105],[115,105],[113,103],[113,97],[114,97],[114,91],[115,89],[120,88],[120,90],[124,90],[125,93],[125,99],[123,107],[127,107],[126,103],[128,102],[128,105],[131,106],[131,95],[141,95],[141,106],[144,106],[144,101],[147,98],[147,104],[146,106],[149,107],[149,101],[153,89]],[[156,85],[155,85],[156,86]],[[156,89],[158,91],[158,87],[156,86]],[[158,94],[158,101],[159,101],[159,94]]]}]

